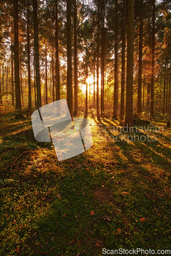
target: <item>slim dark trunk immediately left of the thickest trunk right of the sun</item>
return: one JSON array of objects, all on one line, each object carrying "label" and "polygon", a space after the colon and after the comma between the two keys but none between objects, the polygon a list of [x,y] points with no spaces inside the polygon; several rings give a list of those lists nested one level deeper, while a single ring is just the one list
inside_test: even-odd
[{"label": "slim dark trunk immediately left of the thickest trunk right of the sun", "polygon": [[126,0],[122,1],[122,68],[121,68],[121,96],[120,96],[120,120],[124,117],[124,91],[125,91],[125,22]]}]

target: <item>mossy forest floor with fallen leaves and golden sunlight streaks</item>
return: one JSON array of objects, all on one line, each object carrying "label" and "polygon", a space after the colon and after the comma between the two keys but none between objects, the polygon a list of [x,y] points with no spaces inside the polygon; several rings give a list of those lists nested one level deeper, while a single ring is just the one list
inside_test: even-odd
[{"label": "mossy forest floor with fallen leaves and golden sunlight streaks", "polygon": [[119,121],[88,119],[93,146],[58,162],[30,117],[1,116],[0,255],[171,250],[171,129],[156,120],[122,136]]}]

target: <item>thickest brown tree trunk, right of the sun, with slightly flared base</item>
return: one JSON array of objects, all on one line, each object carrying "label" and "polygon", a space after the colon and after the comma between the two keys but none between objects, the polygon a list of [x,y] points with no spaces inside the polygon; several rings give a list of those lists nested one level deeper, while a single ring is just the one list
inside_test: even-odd
[{"label": "thickest brown tree trunk, right of the sun, with slightly flared base", "polygon": [[135,0],[128,1],[127,17],[127,72],[126,72],[126,113],[124,125],[132,126],[133,121],[133,68],[134,68],[134,10]]}]

